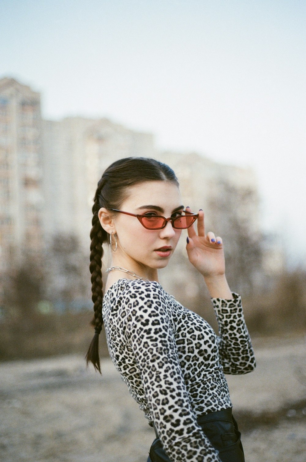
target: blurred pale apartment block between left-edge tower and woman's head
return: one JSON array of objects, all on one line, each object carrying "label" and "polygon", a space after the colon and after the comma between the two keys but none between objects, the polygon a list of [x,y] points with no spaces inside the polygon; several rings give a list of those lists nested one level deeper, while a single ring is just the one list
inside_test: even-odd
[{"label": "blurred pale apartment block between left-edge tower and woman's head", "polygon": [[154,137],[108,119],[43,121],[44,229],[75,234],[90,245],[91,207],[102,172],[129,156],[155,157]]}]

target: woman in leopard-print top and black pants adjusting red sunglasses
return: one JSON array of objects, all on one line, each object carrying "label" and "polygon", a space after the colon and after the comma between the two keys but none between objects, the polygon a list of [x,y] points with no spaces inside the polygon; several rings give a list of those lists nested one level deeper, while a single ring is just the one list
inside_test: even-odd
[{"label": "woman in leopard-print top and black pants adjusting red sunglasses", "polygon": [[[252,371],[255,360],[240,297],[225,278],[221,237],[205,234],[203,211],[184,209],[173,170],[153,159],[114,162],[94,201],[95,335],[87,363],[100,371],[104,322],[110,357],[156,432],[147,462],[244,461],[224,373]],[[220,337],[158,283],[158,270],[167,266],[182,229],[188,230],[188,258],[210,292]],[[107,242],[112,263],[103,298]]]}]

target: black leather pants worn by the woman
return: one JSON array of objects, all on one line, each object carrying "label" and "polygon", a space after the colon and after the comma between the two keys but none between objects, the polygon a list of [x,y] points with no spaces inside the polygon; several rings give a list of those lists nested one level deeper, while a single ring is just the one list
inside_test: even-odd
[{"label": "black leather pants worn by the woman", "polygon": [[[222,462],[245,462],[240,432],[231,407],[202,415],[197,422],[219,452]],[[153,441],[147,462],[171,462],[159,438]]]}]

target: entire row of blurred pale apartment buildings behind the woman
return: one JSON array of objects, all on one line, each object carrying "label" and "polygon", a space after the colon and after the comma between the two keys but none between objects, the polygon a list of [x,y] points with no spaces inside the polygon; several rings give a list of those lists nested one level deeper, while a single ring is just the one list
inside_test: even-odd
[{"label": "entire row of blurred pale apartment buildings behind the woman", "polygon": [[[4,78],[0,79],[0,270],[24,249],[42,251],[56,234],[76,236],[87,252],[97,182],[109,164],[129,156],[153,157],[173,168],[183,204],[194,211],[203,208],[206,230],[227,242],[233,267],[243,233],[250,249],[262,239],[258,186],[251,169],[216,163],[192,152],[158,152],[152,134],[105,118],[42,120],[40,94]],[[183,287],[190,276],[184,265],[176,264],[187,258],[185,245],[181,239],[165,272],[169,290]],[[264,278],[263,267],[275,273],[283,267],[282,252],[273,243],[263,251],[265,265],[261,275],[254,272],[253,282]],[[251,254],[242,257],[252,260]],[[189,286],[189,292],[196,293],[194,280],[191,284],[194,290]]]}]

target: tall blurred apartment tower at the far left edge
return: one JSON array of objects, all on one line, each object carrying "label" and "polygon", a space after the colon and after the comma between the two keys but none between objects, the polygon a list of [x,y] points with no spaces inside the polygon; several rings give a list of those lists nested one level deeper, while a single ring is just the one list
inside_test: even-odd
[{"label": "tall blurred apartment tower at the far left edge", "polygon": [[42,230],[40,94],[12,78],[0,79],[1,265],[26,247],[39,251]]}]

